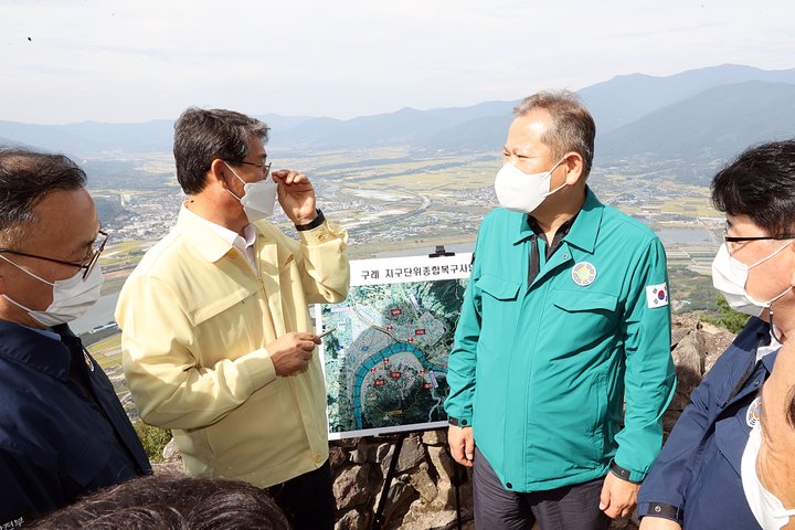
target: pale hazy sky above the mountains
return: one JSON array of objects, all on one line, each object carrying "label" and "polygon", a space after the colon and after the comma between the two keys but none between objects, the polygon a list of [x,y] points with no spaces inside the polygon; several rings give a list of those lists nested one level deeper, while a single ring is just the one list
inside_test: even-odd
[{"label": "pale hazy sky above the mountains", "polygon": [[353,116],[795,67],[793,0],[0,0],[0,120]]}]

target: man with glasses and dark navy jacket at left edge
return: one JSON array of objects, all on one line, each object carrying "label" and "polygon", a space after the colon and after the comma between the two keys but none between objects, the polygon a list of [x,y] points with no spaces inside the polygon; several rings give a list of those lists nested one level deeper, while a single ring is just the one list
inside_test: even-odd
[{"label": "man with glasses and dark navy jacket at left edge", "polygon": [[68,328],[107,234],[62,155],[0,149],[0,527],[151,473],[113,384]]}]

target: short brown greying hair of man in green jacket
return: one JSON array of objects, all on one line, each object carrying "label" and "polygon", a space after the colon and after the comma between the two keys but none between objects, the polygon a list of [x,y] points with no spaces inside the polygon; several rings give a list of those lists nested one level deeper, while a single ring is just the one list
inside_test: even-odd
[{"label": "short brown greying hair of man in green jacket", "polygon": [[593,166],[596,124],[585,105],[573,92],[539,92],[522,99],[513,115],[520,118],[537,108],[552,117],[552,127],[541,141],[552,149],[555,159],[570,151],[579,153],[583,158],[583,178],[587,178]]}]

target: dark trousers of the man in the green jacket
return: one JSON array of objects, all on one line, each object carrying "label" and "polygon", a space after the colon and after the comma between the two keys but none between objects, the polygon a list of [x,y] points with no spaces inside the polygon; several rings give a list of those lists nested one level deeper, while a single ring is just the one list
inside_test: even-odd
[{"label": "dark trousers of the man in the green jacket", "polygon": [[547,491],[521,494],[502,487],[475,447],[473,487],[478,530],[606,530],[611,519],[598,509],[603,478]]}]

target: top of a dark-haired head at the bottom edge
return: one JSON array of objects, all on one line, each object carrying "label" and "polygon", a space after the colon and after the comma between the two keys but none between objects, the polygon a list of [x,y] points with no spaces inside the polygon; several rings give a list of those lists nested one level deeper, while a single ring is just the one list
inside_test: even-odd
[{"label": "top of a dark-haired head at the bottom edge", "polygon": [[153,475],[97,491],[38,530],[289,530],[271,496],[240,480]]}]

